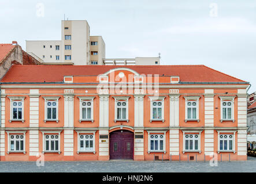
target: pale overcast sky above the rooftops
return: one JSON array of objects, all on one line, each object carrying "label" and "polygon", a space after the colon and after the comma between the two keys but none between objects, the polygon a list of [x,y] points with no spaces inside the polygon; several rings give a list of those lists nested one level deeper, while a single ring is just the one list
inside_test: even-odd
[{"label": "pale overcast sky above the rooftops", "polygon": [[205,64],[256,91],[256,0],[1,0],[0,43],[60,40],[64,13],[103,37],[106,58],[161,53],[161,64]]}]

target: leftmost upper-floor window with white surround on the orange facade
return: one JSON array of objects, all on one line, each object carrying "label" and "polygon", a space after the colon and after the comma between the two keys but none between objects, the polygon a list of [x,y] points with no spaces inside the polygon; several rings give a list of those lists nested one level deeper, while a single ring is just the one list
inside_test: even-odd
[{"label": "leftmost upper-floor window with white surround on the orange facade", "polygon": [[8,97],[10,99],[10,120],[24,122],[24,99],[25,97]]}]

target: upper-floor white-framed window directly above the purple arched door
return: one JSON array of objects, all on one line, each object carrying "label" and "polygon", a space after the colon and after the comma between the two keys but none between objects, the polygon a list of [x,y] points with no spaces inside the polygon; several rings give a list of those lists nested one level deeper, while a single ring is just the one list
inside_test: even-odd
[{"label": "upper-floor white-framed window directly above the purple arched door", "polygon": [[125,120],[128,122],[128,99],[129,97],[113,97],[115,101],[115,122]]}]

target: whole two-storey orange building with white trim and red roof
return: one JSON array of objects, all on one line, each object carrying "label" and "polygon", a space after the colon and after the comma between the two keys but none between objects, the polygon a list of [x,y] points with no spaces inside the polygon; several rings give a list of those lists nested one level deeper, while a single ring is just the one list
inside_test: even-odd
[{"label": "whole two-storey orange building with white trim and red roof", "polygon": [[1,160],[247,160],[249,83],[206,66],[20,66]]}]

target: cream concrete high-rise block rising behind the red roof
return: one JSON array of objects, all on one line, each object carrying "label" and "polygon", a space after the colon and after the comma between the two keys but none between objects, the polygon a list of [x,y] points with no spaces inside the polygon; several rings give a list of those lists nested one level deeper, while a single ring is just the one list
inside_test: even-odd
[{"label": "cream concrete high-rise block rising behind the red roof", "polygon": [[86,20],[62,20],[61,40],[26,40],[27,52],[43,64],[102,64],[105,43],[101,36],[90,36]]}]

